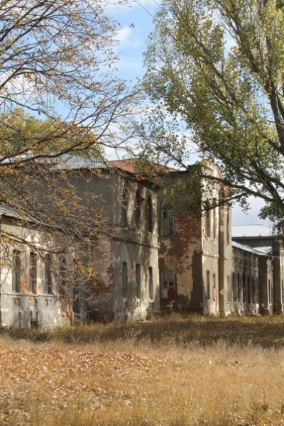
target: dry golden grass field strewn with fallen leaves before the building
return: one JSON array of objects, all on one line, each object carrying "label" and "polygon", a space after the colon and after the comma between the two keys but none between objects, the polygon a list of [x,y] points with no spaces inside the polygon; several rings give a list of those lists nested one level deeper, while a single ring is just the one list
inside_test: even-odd
[{"label": "dry golden grass field strewn with fallen leaves before the building", "polygon": [[0,333],[0,426],[284,425],[284,317]]}]

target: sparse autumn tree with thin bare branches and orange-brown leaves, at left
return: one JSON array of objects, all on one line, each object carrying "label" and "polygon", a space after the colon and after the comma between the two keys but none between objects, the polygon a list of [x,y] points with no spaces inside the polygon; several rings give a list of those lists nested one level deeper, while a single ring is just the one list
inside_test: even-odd
[{"label": "sparse autumn tree with thin bare branches and orange-brown leaves, at left", "polygon": [[57,251],[76,245],[78,258],[105,218],[102,209],[84,209],[86,195],[58,165],[67,153],[96,160],[119,146],[134,97],[115,75],[118,26],[104,15],[106,4],[0,1],[0,202],[26,226],[60,236]]}]

